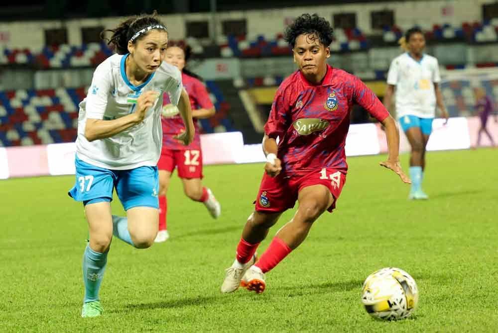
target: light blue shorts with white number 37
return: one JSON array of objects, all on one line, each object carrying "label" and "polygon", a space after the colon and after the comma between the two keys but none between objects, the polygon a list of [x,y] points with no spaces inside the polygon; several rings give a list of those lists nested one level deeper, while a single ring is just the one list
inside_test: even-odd
[{"label": "light blue shorts with white number 37", "polygon": [[69,196],[83,204],[113,200],[113,191],[123,204],[124,210],[133,207],[159,208],[157,193],[159,177],[157,167],[137,167],[127,170],[111,170],[96,167],[76,157],[76,184]]}]

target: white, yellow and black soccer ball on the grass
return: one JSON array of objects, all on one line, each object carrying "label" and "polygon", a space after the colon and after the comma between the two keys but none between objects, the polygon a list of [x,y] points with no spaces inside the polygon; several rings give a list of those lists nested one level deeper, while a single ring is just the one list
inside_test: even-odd
[{"label": "white, yellow and black soccer ball on the grass", "polygon": [[417,307],[417,284],[402,269],[382,268],[370,274],[363,283],[362,302],[365,310],[374,318],[407,318]]}]

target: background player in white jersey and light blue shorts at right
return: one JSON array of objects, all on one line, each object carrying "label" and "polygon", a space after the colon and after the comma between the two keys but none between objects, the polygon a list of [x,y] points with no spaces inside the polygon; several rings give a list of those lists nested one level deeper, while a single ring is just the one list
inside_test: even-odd
[{"label": "background player in white jersey and light blue shorts at right", "polygon": [[438,61],[423,53],[425,38],[422,31],[419,28],[408,29],[399,43],[406,52],[391,62],[383,102],[389,109],[395,91],[397,118],[411,146],[411,190],[408,198],[427,199],[421,186],[425,147],[432,131],[436,106],[446,119],[448,112],[439,88]]}]

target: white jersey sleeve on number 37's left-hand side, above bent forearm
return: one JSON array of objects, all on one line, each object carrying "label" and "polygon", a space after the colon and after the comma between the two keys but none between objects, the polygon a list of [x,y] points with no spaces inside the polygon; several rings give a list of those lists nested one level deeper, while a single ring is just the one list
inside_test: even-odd
[{"label": "white jersey sleeve on number 37's left-hand side, above bent forearm", "polygon": [[110,63],[105,62],[95,70],[86,98],[85,109],[89,119],[104,119],[113,85],[111,78]]}]

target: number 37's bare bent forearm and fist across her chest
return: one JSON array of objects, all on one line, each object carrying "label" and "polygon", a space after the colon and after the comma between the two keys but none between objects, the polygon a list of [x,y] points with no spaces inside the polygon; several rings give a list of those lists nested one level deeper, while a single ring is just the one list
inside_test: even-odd
[{"label": "number 37's bare bent forearm and fist across her chest", "polygon": [[118,119],[87,119],[85,124],[85,138],[90,142],[110,138],[131,126],[139,124],[145,117],[147,109],[154,105],[157,97],[157,92],[146,91],[138,97],[136,111]]}]

